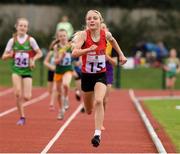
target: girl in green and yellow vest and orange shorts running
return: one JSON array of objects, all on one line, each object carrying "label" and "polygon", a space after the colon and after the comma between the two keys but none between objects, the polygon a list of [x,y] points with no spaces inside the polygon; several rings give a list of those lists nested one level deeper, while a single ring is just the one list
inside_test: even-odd
[{"label": "girl in green and yellow vest and orange shorts running", "polygon": [[58,103],[60,106],[58,119],[64,118],[65,109],[69,108],[68,92],[72,79],[71,45],[68,42],[67,32],[64,29],[57,31],[57,40],[54,46],[56,70],[54,80],[58,92]]}]

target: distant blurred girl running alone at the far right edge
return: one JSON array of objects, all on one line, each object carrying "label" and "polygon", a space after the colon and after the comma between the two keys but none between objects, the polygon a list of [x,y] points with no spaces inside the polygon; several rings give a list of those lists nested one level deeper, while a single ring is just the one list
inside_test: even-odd
[{"label": "distant blurred girl running alone at the far right edge", "polygon": [[169,58],[165,61],[164,69],[166,71],[166,88],[170,90],[170,95],[172,96],[176,74],[180,72],[180,61],[177,58],[176,49],[170,50]]}]

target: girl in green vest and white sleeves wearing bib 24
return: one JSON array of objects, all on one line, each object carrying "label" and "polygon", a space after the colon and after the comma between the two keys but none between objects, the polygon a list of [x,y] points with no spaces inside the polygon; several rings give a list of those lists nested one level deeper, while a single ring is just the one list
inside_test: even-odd
[{"label": "girl in green vest and white sleeves wearing bib 24", "polygon": [[[8,41],[2,59],[13,59],[12,82],[20,119],[17,125],[25,124],[23,102],[31,99],[32,69],[42,56],[35,39],[27,34],[29,22],[26,18],[17,19],[16,34]],[[35,55],[34,55],[35,54]]]}]

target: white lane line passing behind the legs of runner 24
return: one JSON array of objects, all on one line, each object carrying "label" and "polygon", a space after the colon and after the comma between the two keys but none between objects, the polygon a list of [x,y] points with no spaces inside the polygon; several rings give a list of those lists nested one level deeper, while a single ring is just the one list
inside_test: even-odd
[{"label": "white lane line passing behind the legs of runner 24", "polygon": [[[30,101],[25,102],[25,103],[23,104],[23,106],[26,107],[26,106],[29,106],[29,105],[31,105],[31,104],[38,103],[38,102],[40,102],[41,100],[45,99],[48,95],[49,95],[49,93],[48,93],[48,92],[45,92],[45,93],[43,93],[42,95],[40,95],[40,96],[38,96],[38,97],[35,97],[35,98],[31,99]],[[10,114],[10,113],[12,113],[12,112],[14,112],[14,111],[16,111],[16,110],[17,110],[17,107],[13,107],[13,108],[11,108],[11,109],[9,109],[9,110],[6,110],[6,111],[4,111],[4,112],[1,112],[1,113],[0,113],[0,117],[3,117],[3,116],[5,116],[5,115],[7,115],[7,114]]]}]

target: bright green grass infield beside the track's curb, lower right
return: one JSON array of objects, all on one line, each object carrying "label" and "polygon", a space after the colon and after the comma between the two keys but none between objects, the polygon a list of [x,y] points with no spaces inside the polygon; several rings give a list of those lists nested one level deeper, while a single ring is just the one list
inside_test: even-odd
[{"label": "bright green grass infield beside the track's curb, lower right", "polygon": [[144,104],[180,152],[180,100],[146,100]]}]

